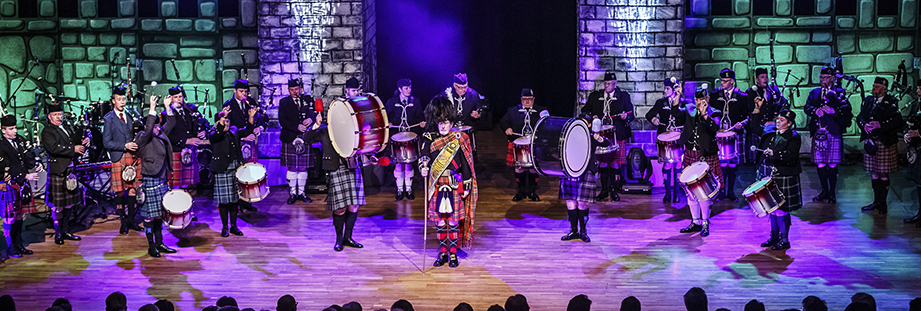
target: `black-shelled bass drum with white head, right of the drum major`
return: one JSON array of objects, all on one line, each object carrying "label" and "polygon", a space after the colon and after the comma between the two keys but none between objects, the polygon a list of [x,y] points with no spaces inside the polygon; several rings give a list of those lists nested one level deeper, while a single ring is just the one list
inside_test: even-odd
[{"label": "black-shelled bass drum with white head, right of the drum major", "polygon": [[543,175],[579,178],[588,169],[592,144],[582,119],[545,117],[531,136],[534,168]]}]

